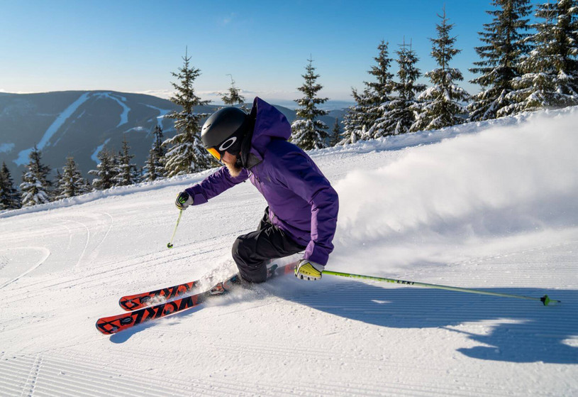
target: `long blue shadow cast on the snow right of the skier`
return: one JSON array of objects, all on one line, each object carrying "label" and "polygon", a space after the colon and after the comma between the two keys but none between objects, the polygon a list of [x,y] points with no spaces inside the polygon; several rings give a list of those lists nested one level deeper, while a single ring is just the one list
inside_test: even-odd
[{"label": "long blue shadow cast on the snow right of the skier", "polygon": [[[565,339],[578,336],[578,290],[480,290],[535,298],[548,293],[562,303],[544,306],[533,300],[418,287],[392,288],[358,281],[337,281],[316,288],[314,293],[280,296],[322,312],[381,327],[458,332],[484,344],[457,349],[475,359],[578,364],[578,348],[565,343]],[[467,322],[485,322],[490,331],[477,335],[452,328]]]}]

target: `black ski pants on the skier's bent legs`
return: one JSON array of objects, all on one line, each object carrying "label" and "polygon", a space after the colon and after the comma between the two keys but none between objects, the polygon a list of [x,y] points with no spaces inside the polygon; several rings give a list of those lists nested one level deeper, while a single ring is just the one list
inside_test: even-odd
[{"label": "black ski pants on the skier's bent legs", "polygon": [[243,280],[262,283],[267,279],[269,259],[283,258],[303,251],[287,233],[276,227],[269,219],[269,207],[255,232],[238,236],[233,244],[233,259]]}]

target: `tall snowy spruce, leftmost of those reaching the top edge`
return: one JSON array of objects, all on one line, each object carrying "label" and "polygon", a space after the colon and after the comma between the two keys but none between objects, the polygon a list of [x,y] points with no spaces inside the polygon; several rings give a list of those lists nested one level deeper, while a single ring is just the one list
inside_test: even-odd
[{"label": "tall snowy spruce, leftmost of those reaching the top edge", "polygon": [[484,31],[478,33],[485,43],[476,47],[482,59],[469,70],[482,74],[471,80],[482,86],[467,107],[472,121],[495,119],[508,113],[512,81],[521,75],[521,58],[530,50],[526,43],[529,34],[525,33],[529,28],[526,16],[531,11],[530,0],[493,0],[492,4],[496,10],[487,13],[494,19],[484,23]]}]

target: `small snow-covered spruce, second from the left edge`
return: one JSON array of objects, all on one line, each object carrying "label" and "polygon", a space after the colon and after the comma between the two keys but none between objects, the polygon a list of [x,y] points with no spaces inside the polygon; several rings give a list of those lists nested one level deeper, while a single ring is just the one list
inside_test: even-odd
[{"label": "small snow-covered spruce, second from the left edge", "polygon": [[30,163],[26,165],[28,170],[23,173],[20,190],[22,192],[22,206],[31,207],[37,204],[50,202],[52,183],[48,180],[50,167],[40,163],[42,152],[34,146],[33,151],[28,155]]}]

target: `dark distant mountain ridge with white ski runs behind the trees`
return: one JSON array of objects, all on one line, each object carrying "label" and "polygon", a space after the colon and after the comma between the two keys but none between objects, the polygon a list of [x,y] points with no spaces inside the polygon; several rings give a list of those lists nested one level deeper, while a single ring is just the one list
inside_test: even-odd
[{"label": "dark distant mountain ridge with white ski runs behind the trees", "polygon": [[[195,111],[210,114],[219,107],[209,104]],[[278,108],[290,122],[295,119],[293,110]],[[20,183],[28,153],[36,145],[50,168],[62,168],[72,156],[87,177],[96,168],[96,154],[105,147],[120,150],[126,138],[133,163],[142,167],[155,126],[162,126],[165,138],[174,136],[174,120],[165,116],[179,110],[167,99],[126,92],[0,93],[0,163],[5,161],[15,183]],[[335,116],[342,115],[333,111],[323,121],[332,128]]]}]

